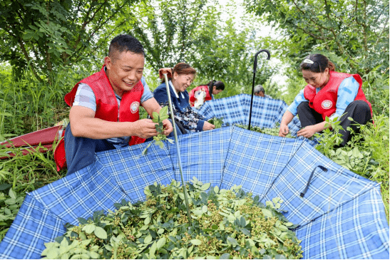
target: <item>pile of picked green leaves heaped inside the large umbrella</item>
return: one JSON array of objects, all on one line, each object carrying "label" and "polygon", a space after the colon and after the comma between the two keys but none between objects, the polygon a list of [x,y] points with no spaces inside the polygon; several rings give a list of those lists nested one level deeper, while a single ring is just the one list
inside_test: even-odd
[{"label": "pile of picked green leaves heaped inside the large umbrella", "polygon": [[[117,203],[116,212],[78,218],[79,226],[46,243],[44,259],[300,259],[300,241],[279,212],[282,200],[266,205],[243,192],[210,188],[193,177],[188,183],[192,224],[183,187],[155,182],[145,202]],[[206,192],[208,190],[208,192]]]}]

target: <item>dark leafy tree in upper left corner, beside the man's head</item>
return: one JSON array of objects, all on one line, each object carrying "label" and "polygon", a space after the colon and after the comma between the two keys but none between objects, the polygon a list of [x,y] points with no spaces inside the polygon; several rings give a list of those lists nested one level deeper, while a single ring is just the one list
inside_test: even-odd
[{"label": "dark leafy tree in upper left corner, beside the man's head", "polygon": [[48,83],[63,66],[88,67],[106,55],[102,46],[119,26],[113,21],[136,1],[1,1],[0,61],[9,61],[18,78],[29,68]]}]

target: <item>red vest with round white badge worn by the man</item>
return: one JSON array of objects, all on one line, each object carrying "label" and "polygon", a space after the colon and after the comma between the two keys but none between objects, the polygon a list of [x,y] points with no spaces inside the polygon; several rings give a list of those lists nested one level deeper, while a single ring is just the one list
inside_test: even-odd
[{"label": "red vest with round white badge worn by the man", "polygon": [[[120,100],[119,114],[118,101],[116,100],[116,95],[111,87],[110,80],[108,80],[106,72],[104,71],[104,66],[101,71],[81,80],[73,87],[71,92],[65,95],[65,102],[70,106],[73,105],[76,91],[80,83],[89,85],[95,94],[95,118],[111,122],[117,122],[118,119],[120,122],[135,122],[140,119],[138,108],[140,106],[140,99],[143,95],[143,83],[141,83],[141,80],[138,81],[130,91],[123,93],[122,99]],[[143,142],[145,142],[145,139],[138,136],[132,136],[129,145],[138,145]],[[66,166],[63,139],[54,151],[54,159],[56,160],[57,170],[61,170],[61,168]]]}]

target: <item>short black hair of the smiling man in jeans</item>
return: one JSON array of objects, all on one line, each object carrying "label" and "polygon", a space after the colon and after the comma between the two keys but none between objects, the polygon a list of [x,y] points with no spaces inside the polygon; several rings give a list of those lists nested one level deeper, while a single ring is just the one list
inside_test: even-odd
[{"label": "short black hair of the smiling man in jeans", "polygon": [[108,56],[116,58],[116,53],[123,53],[126,51],[139,53],[145,56],[145,51],[143,51],[143,46],[140,41],[128,34],[120,34],[113,38],[110,47],[108,48]]}]

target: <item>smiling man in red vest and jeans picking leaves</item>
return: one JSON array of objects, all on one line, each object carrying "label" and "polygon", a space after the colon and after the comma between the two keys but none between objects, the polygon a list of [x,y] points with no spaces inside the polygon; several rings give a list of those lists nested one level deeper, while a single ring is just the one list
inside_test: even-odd
[{"label": "smiling man in red vest and jeans picking leaves", "polygon": [[[55,152],[57,167],[68,175],[91,165],[95,152],[136,145],[158,135],[150,119],[139,120],[139,106],[151,116],[158,105],[143,78],[144,51],[141,43],[129,35],[111,41],[101,71],[77,83],[65,101],[71,106],[64,137],[64,151]],[[168,135],[173,128],[163,121]]]}]

